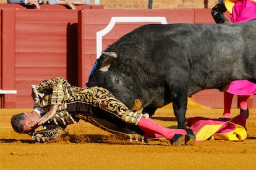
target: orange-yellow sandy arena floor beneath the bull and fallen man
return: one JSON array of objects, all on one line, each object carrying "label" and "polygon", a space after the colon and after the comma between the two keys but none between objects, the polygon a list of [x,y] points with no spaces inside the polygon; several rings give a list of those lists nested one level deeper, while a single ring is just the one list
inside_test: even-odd
[{"label": "orange-yellow sandy arena floor beneath the bull and fallen man", "polygon": [[[256,169],[256,109],[250,110],[249,137],[243,142],[207,140],[179,147],[165,139],[130,144],[83,121],[68,126],[59,141],[33,143],[12,130],[11,116],[22,111],[0,110],[0,169]],[[219,118],[222,111],[188,107],[186,117]],[[164,127],[177,124],[171,108],[158,109],[153,119]]]}]

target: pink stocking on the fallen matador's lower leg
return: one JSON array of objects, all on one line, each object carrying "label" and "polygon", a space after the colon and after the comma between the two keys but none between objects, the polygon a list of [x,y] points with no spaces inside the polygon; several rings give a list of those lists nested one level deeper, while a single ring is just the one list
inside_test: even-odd
[{"label": "pink stocking on the fallen matador's lower leg", "polygon": [[186,135],[187,131],[185,129],[168,129],[160,124],[157,124],[153,119],[150,118],[141,118],[139,122],[139,127],[145,131],[145,138],[156,138],[156,137],[165,137],[168,140],[171,140],[174,134]]}]

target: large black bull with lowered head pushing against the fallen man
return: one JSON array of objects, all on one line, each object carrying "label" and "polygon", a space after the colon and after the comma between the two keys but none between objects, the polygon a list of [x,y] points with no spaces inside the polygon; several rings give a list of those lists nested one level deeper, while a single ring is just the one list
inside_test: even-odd
[{"label": "large black bull with lowered head pushing against the fallen man", "polygon": [[235,24],[150,24],[122,36],[98,59],[88,86],[111,91],[131,110],[153,115],[173,102],[186,128],[187,96],[256,79],[256,20]]}]

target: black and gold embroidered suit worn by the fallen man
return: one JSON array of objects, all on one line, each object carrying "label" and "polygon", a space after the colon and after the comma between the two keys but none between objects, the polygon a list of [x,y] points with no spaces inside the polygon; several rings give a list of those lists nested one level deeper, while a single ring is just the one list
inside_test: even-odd
[{"label": "black and gold embroidered suit worn by the fallen man", "polygon": [[[67,79],[57,77],[32,85],[32,97],[35,101],[34,108],[39,108],[40,112],[43,112],[41,116],[49,111],[51,105],[59,105],[56,114],[44,124],[46,129],[34,134],[42,136],[45,131],[49,134],[49,125],[56,124],[65,128],[67,124],[76,123],[81,118],[108,132],[121,134],[129,140],[145,142],[144,137],[140,135],[143,132],[137,124],[142,116],[148,115],[130,111],[126,105],[102,87],[70,86]],[[98,118],[99,115],[103,117]],[[117,125],[119,123],[123,126]],[[133,130],[130,131],[127,125]],[[54,132],[50,131],[50,134],[52,139],[58,137]],[[38,137],[34,138],[38,139]]]}]

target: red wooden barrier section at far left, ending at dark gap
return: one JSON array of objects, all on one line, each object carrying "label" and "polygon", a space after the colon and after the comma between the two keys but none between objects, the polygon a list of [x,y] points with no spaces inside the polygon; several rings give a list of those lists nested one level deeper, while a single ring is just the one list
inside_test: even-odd
[{"label": "red wooden barrier section at far left, ending at dark gap", "polygon": [[[77,85],[77,11],[66,6],[19,4],[1,8],[1,108],[32,108],[31,84],[56,76]],[[103,6],[77,6],[97,9]]]}]

